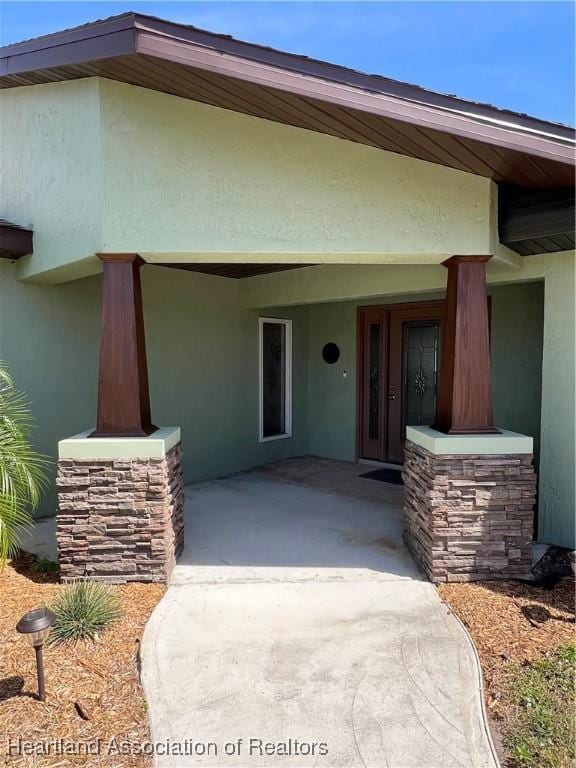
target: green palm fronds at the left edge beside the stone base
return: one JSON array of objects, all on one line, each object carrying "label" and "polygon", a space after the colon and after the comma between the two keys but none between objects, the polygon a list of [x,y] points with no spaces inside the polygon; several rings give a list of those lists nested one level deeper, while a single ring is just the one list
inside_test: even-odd
[{"label": "green palm fronds at the left edge beside the stone base", "polygon": [[0,570],[32,527],[46,483],[48,460],[30,445],[32,425],[28,399],[0,363]]}]

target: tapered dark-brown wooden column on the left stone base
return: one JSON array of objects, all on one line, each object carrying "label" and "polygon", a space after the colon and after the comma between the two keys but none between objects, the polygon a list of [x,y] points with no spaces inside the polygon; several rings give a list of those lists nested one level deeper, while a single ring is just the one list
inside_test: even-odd
[{"label": "tapered dark-brown wooden column on the left stone base", "polygon": [[143,437],[150,421],[140,266],[135,253],[99,254],[104,262],[98,417],[91,437]]}]

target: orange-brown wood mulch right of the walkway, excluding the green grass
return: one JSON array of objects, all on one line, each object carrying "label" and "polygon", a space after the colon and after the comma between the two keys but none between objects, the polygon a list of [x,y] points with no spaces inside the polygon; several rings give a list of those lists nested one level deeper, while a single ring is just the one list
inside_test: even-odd
[{"label": "orange-brown wood mulch right of the walkway, excluding the green grass", "polygon": [[574,579],[552,589],[512,581],[442,584],[440,596],[466,625],[480,656],[484,692],[503,764],[502,735],[514,713],[510,683],[518,665],[535,661],[576,641]]}]

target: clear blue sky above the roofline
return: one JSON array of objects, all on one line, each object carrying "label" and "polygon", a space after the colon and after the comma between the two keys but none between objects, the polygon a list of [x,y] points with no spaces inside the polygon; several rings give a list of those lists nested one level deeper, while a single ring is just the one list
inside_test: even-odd
[{"label": "clear blue sky above the roofline", "polygon": [[2,44],[128,10],[574,124],[572,2],[5,2]]}]

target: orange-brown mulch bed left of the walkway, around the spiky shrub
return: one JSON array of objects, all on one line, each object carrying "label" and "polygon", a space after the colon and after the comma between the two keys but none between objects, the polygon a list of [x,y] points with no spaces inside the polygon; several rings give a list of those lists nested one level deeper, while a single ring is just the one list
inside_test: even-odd
[{"label": "orange-brown mulch bed left of the walkway, around the spiky shrub", "polygon": [[[148,755],[117,754],[117,748],[150,739],[138,648],[144,625],[165,588],[117,586],[124,616],[97,641],[46,645],[47,700],[42,703],[36,698],[34,652],[15,626],[23,613],[49,603],[62,586],[57,575],[34,570],[34,562],[35,558],[22,555],[0,573],[0,765],[150,766]],[[72,745],[65,747],[68,751],[79,745],[78,754],[55,754],[54,747],[52,754],[30,755],[22,750],[18,754],[17,739],[48,745],[50,740],[62,739],[60,752],[63,744]],[[12,754],[7,753],[9,746]],[[92,754],[87,754],[88,749]]]}]

